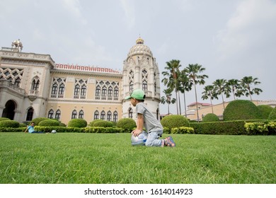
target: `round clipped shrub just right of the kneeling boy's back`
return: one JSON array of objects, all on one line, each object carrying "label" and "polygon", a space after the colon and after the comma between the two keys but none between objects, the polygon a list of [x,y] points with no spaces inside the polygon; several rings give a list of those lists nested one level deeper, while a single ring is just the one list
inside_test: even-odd
[{"label": "round clipped shrub just right of the kneeling boy's back", "polygon": [[162,118],[161,124],[169,130],[176,127],[190,127],[188,119],[182,115],[167,115]]}]

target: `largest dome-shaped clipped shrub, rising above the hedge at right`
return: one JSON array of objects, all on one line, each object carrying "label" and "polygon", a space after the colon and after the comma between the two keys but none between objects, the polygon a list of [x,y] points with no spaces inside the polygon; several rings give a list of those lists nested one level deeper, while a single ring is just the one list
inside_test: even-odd
[{"label": "largest dome-shaped clipped shrub, rising above the hedge at right", "polygon": [[224,120],[261,120],[262,115],[258,107],[250,100],[234,100],[225,108]]}]

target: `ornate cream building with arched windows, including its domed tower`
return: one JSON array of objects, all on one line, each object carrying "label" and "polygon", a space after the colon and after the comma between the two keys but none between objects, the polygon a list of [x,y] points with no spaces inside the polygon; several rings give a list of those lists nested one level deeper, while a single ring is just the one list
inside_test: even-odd
[{"label": "ornate cream building with arched windows, including its domed tower", "polygon": [[73,118],[88,123],[117,122],[134,117],[125,101],[135,88],[146,93],[146,105],[159,119],[160,78],[156,60],[139,37],[124,62],[122,73],[94,66],[55,64],[49,54],[21,52],[20,40],[0,50],[0,116],[25,122],[35,117]]}]

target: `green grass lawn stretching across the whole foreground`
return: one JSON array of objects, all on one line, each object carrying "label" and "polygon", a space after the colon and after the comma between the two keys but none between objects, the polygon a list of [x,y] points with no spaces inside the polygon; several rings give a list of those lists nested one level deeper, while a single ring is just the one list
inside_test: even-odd
[{"label": "green grass lawn stretching across the whole foreground", "polygon": [[0,182],[276,183],[276,136],[172,136],[175,148],[131,146],[130,134],[0,133]]}]

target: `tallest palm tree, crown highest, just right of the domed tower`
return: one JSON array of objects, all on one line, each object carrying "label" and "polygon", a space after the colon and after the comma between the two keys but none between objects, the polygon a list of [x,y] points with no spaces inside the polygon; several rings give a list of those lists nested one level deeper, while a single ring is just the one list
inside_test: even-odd
[{"label": "tallest palm tree, crown highest, just right of the domed tower", "polygon": [[165,77],[168,78],[163,78],[162,83],[164,83],[165,86],[168,88],[174,88],[176,91],[176,111],[178,114],[178,103],[179,101],[177,100],[178,98],[178,73],[179,73],[179,68],[181,66],[180,60],[172,59],[169,62],[166,62],[167,66],[165,66],[165,69],[168,71],[163,71],[162,74]]}]

